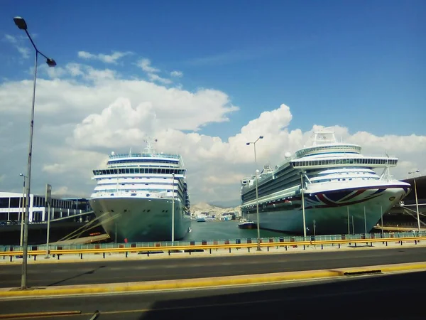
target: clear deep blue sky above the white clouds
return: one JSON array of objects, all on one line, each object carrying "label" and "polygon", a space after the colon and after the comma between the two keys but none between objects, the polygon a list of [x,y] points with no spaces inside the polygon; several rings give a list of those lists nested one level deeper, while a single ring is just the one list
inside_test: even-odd
[{"label": "clear deep blue sky above the white clouds", "polygon": [[[426,134],[426,1],[4,0],[0,6],[0,85],[32,77],[33,51],[12,20],[23,16],[58,67],[81,63],[79,51],[131,52],[114,65],[120,78],[141,76],[136,60],[147,58],[162,76],[180,70],[185,90],[225,92],[239,110],[226,114],[229,122],[205,122],[198,134],[226,140],[281,104],[293,116],[288,129],[302,132],[320,124],[380,137]],[[29,57],[6,35],[21,37]]]}]

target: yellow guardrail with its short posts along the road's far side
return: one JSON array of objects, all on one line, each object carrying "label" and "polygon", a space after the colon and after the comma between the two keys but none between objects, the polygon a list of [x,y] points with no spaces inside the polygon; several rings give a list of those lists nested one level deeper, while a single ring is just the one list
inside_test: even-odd
[{"label": "yellow guardrail with its short posts along the road's far side", "polygon": [[[280,238],[282,240],[283,238]],[[294,239],[294,238],[293,238]],[[238,240],[238,239],[237,239]],[[261,247],[266,247],[269,251],[270,247],[285,247],[285,250],[288,250],[288,247],[297,247],[297,246],[303,246],[304,250],[307,245],[319,245],[321,246],[321,249],[324,248],[324,245],[337,245],[339,248],[342,245],[345,244],[354,244],[356,247],[357,244],[366,243],[366,245],[373,246],[373,242],[383,242],[383,244],[386,244],[388,246],[388,242],[398,242],[400,245],[403,245],[403,242],[415,242],[417,245],[417,242],[420,241],[426,241],[426,237],[403,237],[403,238],[361,238],[361,239],[338,239],[338,240],[316,240],[315,237],[310,237],[310,240],[302,240],[302,241],[274,241],[274,238],[270,238],[268,242],[265,242],[264,239],[261,239]],[[257,247],[256,242],[246,242],[241,243],[236,241],[236,243],[229,243],[225,241],[223,244],[219,243],[213,243],[213,244],[207,244],[206,242],[202,242],[201,245],[155,245],[155,246],[148,246],[148,247],[105,247],[105,248],[90,248],[90,249],[62,249],[60,247],[49,250],[50,255],[56,255],[58,257],[58,260],[60,259],[60,255],[80,255],[80,258],[83,258],[83,255],[86,254],[103,254],[103,257],[105,258],[106,253],[124,253],[126,257],[128,257],[129,252],[138,252],[138,253],[146,253],[148,256],[150,253],[153,252],[168,252],[168,255],[170,255],[173,252],[176,251],[184,251],[184,252],[194,252],[196,250],[209,250],[209,253],[212,253],[212,250],[219,250],[219,249],[227,249],[229,250],[229,253],[231,253],[232,249],[239,250],[239,249],[247,249],[251,250],[251,248]],[[36,260],[36,257],[38,255],[46,255],[46,250],[37,250],[37,247],[33,246],[32,249],[35,250],[28,250],[28,255],[30,257],[34,257],[34,260]],[[3,252],[0,252],[0,257],[3,257],[4,259],[6,257],[10,257],[10,260],[13,260],[13,257],[21,256],[23,255],[22,250],[11,250],[13,247],[9,247],[9,250],[4,250]]]}]

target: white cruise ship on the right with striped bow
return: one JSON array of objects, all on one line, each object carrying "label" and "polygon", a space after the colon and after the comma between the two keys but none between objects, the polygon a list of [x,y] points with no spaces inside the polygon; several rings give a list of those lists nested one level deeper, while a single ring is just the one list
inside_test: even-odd
[{"label": "white cruise ship on the right with striped bow", "polygon": [[312,146],[286,153],[279,166],[264,166],[260,174],[241,180],[241,211],[257,223],[258,206],[259,226],[266,230],[368,233],[410,193],[409,183],[390,174],[397,163],[387,155],[364,156],[361,146],[337,142],[332,130],[322,129],[314,133]]}]

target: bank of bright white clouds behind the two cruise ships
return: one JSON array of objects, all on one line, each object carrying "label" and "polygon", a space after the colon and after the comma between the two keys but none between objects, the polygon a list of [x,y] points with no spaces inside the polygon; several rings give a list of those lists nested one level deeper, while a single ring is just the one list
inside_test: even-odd
[{"label": "bank of bright white clouds behind the two cruise ships", "polygon": [[[160,73],[149,60],[139,63],[146,73]],[[21,191],[18,174],[26,169],[28,148],[28,130],[22,128],[28,127],[31,90],[32,80],[0,83],[0,130],[7,130],[9,137],[0,137],[4,191]],[[143,140],[150,136],[158,139],[158,151],[182,154],[192,202],[238,203],[240,179],[256,168],[253,146],[246,142],[264,137],[256,144],[261,169],[264,164],[280,164],[285,152],[293,154],[308,144],[313,130],[320,127],[290,130],[293,115],[283,104],[257,114],[226,139],[202,134],[205,125],[227,122],[229,114],[238,111],[225,92],[211,88],[166,87],[158,79],[128,78],[79,63],[64,65],[54,75],[40,69],[32,188],[43,194],[45,183],[50,183],[58,194],[87,197],[95,186],[92,170],[104,166],[111,151],[142,151]],[[363,146],[366,155],[398,156],[400,163],[391,170],[395,178],[406,178],[413,169],[426,172],[425,136],[378,137],[339,125],[332,129],[338,139]]]}]

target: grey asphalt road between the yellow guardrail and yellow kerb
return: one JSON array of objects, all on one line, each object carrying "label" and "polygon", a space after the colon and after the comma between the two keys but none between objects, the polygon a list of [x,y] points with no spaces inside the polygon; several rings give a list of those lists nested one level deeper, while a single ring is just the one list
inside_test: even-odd
[{"label": "grey asphalt road between the yellow guardrail and yellow kerb", "polygon": [[[28,265],[30,287],[221,277],[426,261],[426,247]],[[20,287],[20,265],[0,265],[0,287]]]}]

